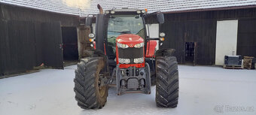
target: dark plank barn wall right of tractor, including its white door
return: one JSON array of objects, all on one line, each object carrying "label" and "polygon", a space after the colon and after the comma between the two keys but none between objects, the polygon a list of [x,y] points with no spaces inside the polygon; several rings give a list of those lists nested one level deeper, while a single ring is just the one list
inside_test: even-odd
[{"label": "dark plank barn wall right of tractor, including its white door", "polygon": [[169,13],[160,32],[178,62],[223,65],[225,55],[256,57],[256,6]]}]

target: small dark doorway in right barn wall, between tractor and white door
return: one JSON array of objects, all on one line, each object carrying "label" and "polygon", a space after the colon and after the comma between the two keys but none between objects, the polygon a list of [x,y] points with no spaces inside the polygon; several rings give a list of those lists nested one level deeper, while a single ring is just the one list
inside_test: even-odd
[{"label": "small dark doorway in right barn wall, between tractor and white door", "polygon": [[185,63],[188,65],[194,65],[195,59],[195,43],[186,42],[185,43]]}]

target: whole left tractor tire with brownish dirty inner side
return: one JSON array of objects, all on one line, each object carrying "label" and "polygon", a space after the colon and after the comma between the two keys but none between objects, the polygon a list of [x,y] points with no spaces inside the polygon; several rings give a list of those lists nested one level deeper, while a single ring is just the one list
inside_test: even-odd
[{"label": "whole left tractor tire with brownish dirty inner side", "polygon": [[102,57],[81,59],[78,68],[75,70],[75,100],[78,106],[83,109],[94,109],[104,107],[108,86],[100,86],[99,75],[105,68],[105,61]]}]

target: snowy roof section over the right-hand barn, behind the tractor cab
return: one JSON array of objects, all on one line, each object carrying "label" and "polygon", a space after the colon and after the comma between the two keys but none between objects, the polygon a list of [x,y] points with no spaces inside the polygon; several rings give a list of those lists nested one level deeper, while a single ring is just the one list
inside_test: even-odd
[{"label": "snowy roof section over the right-hand barn, behind the tractor cab", "polygon": [[227,8],[236,6],[256,5],[256,0],[93,0],[91,8],[84,8],[81,16],[97,14],[96,7],[100,4],[104,10],[111,8],[147,8],[149,12],[190,11],[209,8]]}]

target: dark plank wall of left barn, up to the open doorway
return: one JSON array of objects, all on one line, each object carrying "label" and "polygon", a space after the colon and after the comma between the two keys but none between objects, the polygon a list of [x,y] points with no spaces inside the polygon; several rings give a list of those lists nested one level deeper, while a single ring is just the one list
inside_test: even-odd
[{"label": "dark plank wall of left barn, up to the open doorway", "polygon": [[[0,4],[0,76],[43,62],[62,68],[61,26],[78,25],[76,16]],[[55,51],[58,57],[51,55]]]}]

